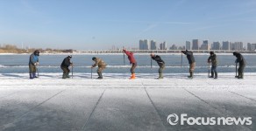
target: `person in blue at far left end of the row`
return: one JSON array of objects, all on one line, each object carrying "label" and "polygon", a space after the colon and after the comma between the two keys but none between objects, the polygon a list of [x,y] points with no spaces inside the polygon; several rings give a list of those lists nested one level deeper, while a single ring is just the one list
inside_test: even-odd
[{"label": "person in blue at far left end of the row", "polygon": [[38,76],[36,76],[36,72],[37,72],[36,66],[39,66],[39,53],[40,53],[39,50],[36,50],[30,55],[29,64],[28,64],[30,79],[38,78]]}]

